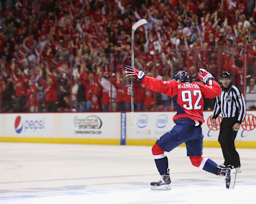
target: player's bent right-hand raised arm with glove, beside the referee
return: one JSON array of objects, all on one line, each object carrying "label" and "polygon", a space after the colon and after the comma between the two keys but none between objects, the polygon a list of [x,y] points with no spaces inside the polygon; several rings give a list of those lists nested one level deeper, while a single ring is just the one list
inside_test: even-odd
[{"label": "player's bent right-hand raised arm with glove, beside the referee", "polygon": [[199,72],[201,75],[198,75],[197,78],[201,81],[204,81],[205,85],[202,83],[197,83],[197,85],[200,87],[201,92],[204,97],[213,99],[216,96],[221,94],[221,87],[217,83],[217,81],[213,80],[214,77],[212,74],[205,69],[199,69]]}]

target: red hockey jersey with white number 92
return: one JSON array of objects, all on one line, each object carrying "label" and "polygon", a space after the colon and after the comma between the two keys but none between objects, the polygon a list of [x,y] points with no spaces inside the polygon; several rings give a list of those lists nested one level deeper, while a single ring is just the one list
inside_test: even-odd
[{"label": "red hockey jersey with white number 92", "polygon": [[213,80],[212,86],[205,86],[202,83],[178,83],[178,81],[162,81],[160,79],[145,76],[142,84],[155,92],[161,92],[172,97],[177,114],[173,120],[179,118],[190,118],[204,123],[203,118],[203,96],[209,99],[221,94],[220,85]]}]

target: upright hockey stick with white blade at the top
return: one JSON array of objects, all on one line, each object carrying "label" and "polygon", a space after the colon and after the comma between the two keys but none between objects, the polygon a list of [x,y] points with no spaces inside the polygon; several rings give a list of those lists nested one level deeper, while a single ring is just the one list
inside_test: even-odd
[{"label": "upright hockey stick with white blade at the top", "polygon": [[[139,28],[140,26],[144,25],[145,23],[147,23],[147,20],[145,19],[140,19],[139,21],[135,22],[133,25],[132,25],[132,66],[131,67],[134,67],[134,33],[135,33],[135,30],[137,28]],[[131,85],[132,85],[132,93],[131,93],[131,125],[132,125],[132,113],[133,113],[133,109],[134,109],[134,104],[133,104],[133,77],[132,77],[132,80],[131,80]]]}]

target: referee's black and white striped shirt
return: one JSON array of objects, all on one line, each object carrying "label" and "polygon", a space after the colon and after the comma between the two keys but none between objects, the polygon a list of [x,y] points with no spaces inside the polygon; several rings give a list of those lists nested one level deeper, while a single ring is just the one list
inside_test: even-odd
[{"label": "referee's black and white striped shirt", "polygon": [[222,88],[221,94],[216,97],[212,118],[217,118],[220,113],[222,118],[237,117],[237,123],[243,122],[246,116],[246,104],[243,94],[234,85],[228,89]]}]

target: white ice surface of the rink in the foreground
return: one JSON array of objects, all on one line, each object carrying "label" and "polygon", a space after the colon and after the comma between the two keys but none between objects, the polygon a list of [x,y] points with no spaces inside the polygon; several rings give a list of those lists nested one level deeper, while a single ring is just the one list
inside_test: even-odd
[{"label": "white ice surface of the rink in the foreground", "polygon": [[[159,175],[150,146],[0,143],[0,203],[256,203],[256,150],[237,151],[242,173],[233,190],[177,148],[166,153],[172,190],[151,191]],[[223,162],[218,148],[203,156]]]}]

